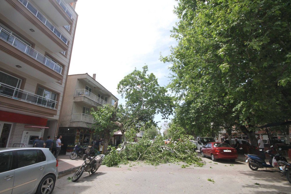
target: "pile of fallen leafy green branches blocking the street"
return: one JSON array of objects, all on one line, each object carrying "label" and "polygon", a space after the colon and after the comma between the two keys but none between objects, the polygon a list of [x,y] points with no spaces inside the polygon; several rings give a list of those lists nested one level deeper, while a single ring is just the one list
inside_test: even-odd
[{"label": "pile of fallen leafy green branches blocking the street", "polygon": [[[180,127],[176,128],[173,134],[171,142],[165,144],[162,135],[158,134],[155,141],[150,142],[149,134],[144,133],[139,142],[126,144],[124,150],[112,150],[104,157],[102,164],[111,167],[128,163],[128,161],[144,161],[151,165],[168,162],[185,162],[187,165],[203,166],[204,164],[200,163],[201,159],[196,156],[197,153],[194,150],[196,145],[189,142],[193,137],[186,135],[184,129]],[[163,149],[160,146],[166,146],[168,149]]]}]

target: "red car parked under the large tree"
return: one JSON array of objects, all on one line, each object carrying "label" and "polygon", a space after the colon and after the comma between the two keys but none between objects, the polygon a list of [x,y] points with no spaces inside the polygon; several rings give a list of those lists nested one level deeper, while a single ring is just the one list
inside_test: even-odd
[{"label": "red car parked under the large tree", "polygon": [[238,154],[237,150],[230,147],[227,143],[210,142],[201,149],[201,156],[209,156],[212,161],[216,161],[217,159],[230,159],[232,162],[235,162]]}]

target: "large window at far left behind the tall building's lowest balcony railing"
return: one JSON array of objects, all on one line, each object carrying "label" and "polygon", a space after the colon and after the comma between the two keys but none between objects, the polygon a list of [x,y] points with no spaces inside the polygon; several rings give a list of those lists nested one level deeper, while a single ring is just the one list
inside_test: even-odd
[{"label": "large window at far left behind the tall building's lowest balcony railing", "polygon": [[[0,86],[0,95],[3,96],[15,96],[17,95],[17,90],[15,88],[19,88],[21,85],[21,79],[14,77],[12,75],[9,75],[7,73],[4,73],[0,71],[0,83],[7,84]],[[9,87],[12,86],[12,87]],[[15,87],[15,88],[13,88]]]}]

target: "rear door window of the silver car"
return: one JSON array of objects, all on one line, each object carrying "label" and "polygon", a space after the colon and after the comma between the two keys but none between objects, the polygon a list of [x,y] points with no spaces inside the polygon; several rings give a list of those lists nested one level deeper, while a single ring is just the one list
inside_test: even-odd
[{"label": "rear door window of the silver car", "polygon": [[19,150],[17,151],[18,168],[38,163],[37,150]]}]

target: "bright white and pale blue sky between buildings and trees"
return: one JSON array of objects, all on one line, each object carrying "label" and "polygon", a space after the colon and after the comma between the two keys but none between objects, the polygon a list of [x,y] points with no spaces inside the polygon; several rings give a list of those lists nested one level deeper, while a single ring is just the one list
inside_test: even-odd
[{"label": "bright white and pale blue sky between buildings and trees", "polygon": [[[136,67],[148,65],[160,86],[169,82],[168,66],[159,61],[170,54],[176,44],[170,38],[178,22],[173,13],[175,0],[96,1],[79,0],[69,75],[88,73],[108,89],[119,101],[117,84]],[[162,121],[157,115],[155,121]],[[162,122],[161,122],[162,123]],[[160,125],[160,124],[159,124]]]}]

